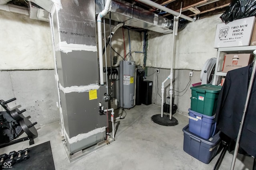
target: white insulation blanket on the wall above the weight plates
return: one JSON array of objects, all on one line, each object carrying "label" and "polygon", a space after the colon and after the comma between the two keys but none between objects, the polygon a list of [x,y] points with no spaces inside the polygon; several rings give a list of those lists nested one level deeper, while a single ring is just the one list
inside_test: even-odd
[{"label": "white insulation blanket on the wall above the weight plates", "polygon": [[0,69],[53,69],[52,36],[48,22],[0,11]]}]

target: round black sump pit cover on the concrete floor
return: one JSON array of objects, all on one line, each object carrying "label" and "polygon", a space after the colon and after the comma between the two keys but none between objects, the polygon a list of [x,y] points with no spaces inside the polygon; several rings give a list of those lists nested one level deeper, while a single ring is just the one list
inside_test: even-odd
[{"label": "round black sump pit cover on the concrete floor", "polygon": [[160,114],[158,115],[153,115],[151,117],[151,120],[158,124],[158,125],[162,125],[162,126],[175,126],[178,125],[178,120],[175,119],[174,117],[172,117],[172,120],[170,120],[170,116],[169,115],[163,115],[163,117],[161,117]]}]

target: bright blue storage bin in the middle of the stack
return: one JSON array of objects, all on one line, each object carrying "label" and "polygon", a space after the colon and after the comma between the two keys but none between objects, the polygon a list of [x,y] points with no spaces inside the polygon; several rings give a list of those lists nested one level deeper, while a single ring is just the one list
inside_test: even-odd
[{"label": "bright blue storage bin in the middle of the stack", "polygon": [[209,139],[215,129],[214,116],[208,116],[191,109],[188,109],[189,113],[189,131],[198,135],[204,139]]}]

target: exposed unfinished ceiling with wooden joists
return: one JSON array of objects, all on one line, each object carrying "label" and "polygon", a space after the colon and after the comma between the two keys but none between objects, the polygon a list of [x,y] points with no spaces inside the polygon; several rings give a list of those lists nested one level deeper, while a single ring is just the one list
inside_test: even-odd
[{"label": "exposed unfinished ceiling with wooden joists", "polygon": [[[172,19],[173,16],[171,14],[166,14],[161,10],[156,8],[152,8],[138,2],[137,0],[124,0],[135,6],[140,6],[146,10],[150,10],[158,15],[164,16],[168,19]],[[226,11],[228,5],[232,0],[152,0],[158,4],[165,6],[166,8],[170,8],[176,12],[180,12],[180,6],[182,4],[182,14],[190,17],[196,17],[197,19],[205,18],[208,16],[212,16],[215,14],[220,14]],[[12,0],[8,2],[8,4],[14,4],[17,6],[27,7],[28,2],[26,0]]]}]

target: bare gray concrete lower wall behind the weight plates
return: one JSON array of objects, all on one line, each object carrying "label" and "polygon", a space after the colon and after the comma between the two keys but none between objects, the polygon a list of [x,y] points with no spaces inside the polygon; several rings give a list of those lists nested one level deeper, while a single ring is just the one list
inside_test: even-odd
[{"label": "bare gray concrete lower wall behind the weight plates", "polygon": [[8,106],[26,109],[23,115],[30,115],[30,121],[38,122],[36,126],[60,120],[54,70],[2,70],[0,79],[0,99],[16,98]]}]

